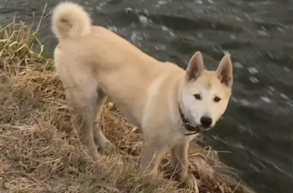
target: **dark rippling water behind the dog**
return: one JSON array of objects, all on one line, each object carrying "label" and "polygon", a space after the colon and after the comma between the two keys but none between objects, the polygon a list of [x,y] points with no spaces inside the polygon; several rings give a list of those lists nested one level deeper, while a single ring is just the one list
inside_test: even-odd
[{"label": "dark rippling water behind the dog", "polygon": [[[0,0],[0,23],[11,16],[32,22],[57,0]],[[227,111],[204,144],[259,193],[293,189],[293,1],[290,0],[90,0],[84,5],[94,24],[105,26],[144,52],[186,67],[192,54],[204,54],[215,69],[223,53],[235,66],[234,92]],[[56,41],[50,16],[42,42]]]}]

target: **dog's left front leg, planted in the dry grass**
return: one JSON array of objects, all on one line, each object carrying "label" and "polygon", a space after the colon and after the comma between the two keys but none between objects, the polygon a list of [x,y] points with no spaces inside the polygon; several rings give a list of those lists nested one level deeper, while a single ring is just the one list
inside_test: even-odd
[{"label": "dog's left front leg, planted in the dry grass", "polygon": [[143,141],[140,153],[140,168],[147,174],[157,174],[158,165],[165,149],[153,140]]}]

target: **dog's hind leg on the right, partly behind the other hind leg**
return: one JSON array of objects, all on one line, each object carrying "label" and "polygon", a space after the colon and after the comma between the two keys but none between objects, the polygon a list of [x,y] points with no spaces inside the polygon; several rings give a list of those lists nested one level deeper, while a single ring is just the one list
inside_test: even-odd
[{"label": "dog's hind leg on the right, partly behind the other hind leg", "polygon": [[99,121],[101,118],[101,113],[103,110],[103,105],[107,99],[107,95],[101,90],[98,90],[98,100],[97,100],[97,111],[96,111],[96,120],[93,127],[94,139],[98,147],[102,150],[111,150],[114,148],[114,145],[107,139],[104,135],[101,127],[99,126]]}]

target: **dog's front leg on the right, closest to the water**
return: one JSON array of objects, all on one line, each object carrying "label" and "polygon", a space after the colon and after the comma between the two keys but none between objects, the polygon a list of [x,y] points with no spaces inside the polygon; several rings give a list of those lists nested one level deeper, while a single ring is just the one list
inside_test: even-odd
[{"label": "dog's front leg on the right, closest to the water", "polygon": [[183,180],[191,188],[196,188],[196,179],[193,174],[188,172],[188,147],[189,141],[185,141],[174,146],[171,149],[171,158],[175,171],[178,173],[181,180]]}]

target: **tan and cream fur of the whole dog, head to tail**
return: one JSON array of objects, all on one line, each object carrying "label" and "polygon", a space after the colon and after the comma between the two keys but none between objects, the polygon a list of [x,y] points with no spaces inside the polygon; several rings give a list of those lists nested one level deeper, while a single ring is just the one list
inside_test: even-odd
[{"label": "tan and cream fur of the whole dog, head to tail", "polygon": [[[187,150],[196,135],[183,126],[179,108],[193,126],[213,127],[224,113],[232,87],[232,63],[224,56],[216,71],[203,69],[196,52],[186,70],[143,53],[115,33],[93,26],[77,4],[57,5],[52,30],[58,38],[54,61],[70,103],[83,119],[80,139],[94,160],[97,146],[112,148],[98,126],[102,105],[109,96],[123,115],[143,133],[140,165],[157,171],[166,150],[171,150],[179,176],[195,185],[188,173]],[[218,97],[218,98],[217,98]],[[97,144],[97,146],[96,146]]]}]

